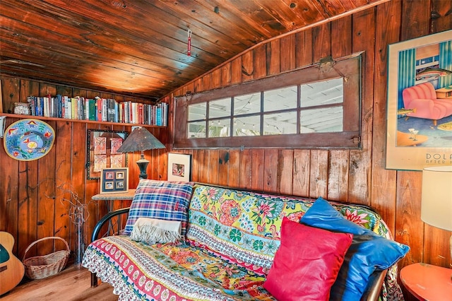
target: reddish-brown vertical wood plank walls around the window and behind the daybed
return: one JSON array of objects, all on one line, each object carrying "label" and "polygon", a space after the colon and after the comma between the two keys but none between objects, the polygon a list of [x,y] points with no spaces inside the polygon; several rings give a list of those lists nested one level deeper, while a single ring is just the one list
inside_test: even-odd
[{"label": "reddish-brown vertical wood plank walls around the window and behind the daybed", "polygon": [[[408,256],[400,261],[400,267],[415,262],[449,266],[448,237],[452,233],[424,225],[420,220],[421,172],[385,170],[384,153],[387,45],[452,29],[452,14],[448,13],[451,8],[450,1],[390,1],[258,45],[172,93],[198,93],[253,81],[313,64],[328,55],[338,58],[364,51],[362,150],[255,148],[239,151],[225,148],[173,151],[193,155],[192,177],[197,182],[298,196],[323,196],[373,206],[386,220],[395,239],[411,247]],[[439,18],[432,19],[432,11],[439,13]],[[95,91],[7,76],[1,76],[1,80],[4,108],[12,102],[24,101],[28,95],[98,95]],[[172,101],[172,95],[167,95],[164,101]],[[104,93],[100,96],[123,99]],[[14,121],[16,119],[7,119],[8,124]],[[170,120],[169,130],[173,122]],[[40,160],[28,163],[12,160],[0,148],[0,230],[13,233],[16,238],[14,253],[19,256],[23,255],[30,242],[49,235],[65,237],[74,249],[75,232],[68,208],[58,198],[49,197],[52,194],[48,191],[52,191],[58,183],[57,179],[61,179],[76,187],[78,194],[88,202],[90,196],[97,193],[98,182],[85,179],[87,129],[130,130],[124,126],[66,121],[49,124],[57,131],[57,141],[52,152]],[[171,151],[169,131],[152,131],[167,143],[167,150]],[[166,179],[165,151],[146,155],[151,160],[149,177]],[[137,156],[130,161],[136,160]],[[134,166],[129,164],[131,179],[138,178]],[[55,182],[40,185],[42,179],[49,177]],[[131,182],[131,187],[136,184]],[[88,211],[90,216],[85,225],[86,232],[93,229],[105,207],[100,203],[90,203]],[[85,241],[88,242],[86,233]],[[408,294],[405,292],[405,295]]]}]

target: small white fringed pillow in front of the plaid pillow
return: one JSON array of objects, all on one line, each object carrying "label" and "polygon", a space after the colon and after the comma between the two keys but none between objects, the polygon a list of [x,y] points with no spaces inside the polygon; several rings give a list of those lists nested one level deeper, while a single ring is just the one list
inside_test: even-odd
[{"label": "small white fringed pillow in front of the plaid pillow", "polygon": [[177,220],[138,218],[135,225],[133,225],[130,238],[147,244],[177,242],[182,239],[181,222]]}]

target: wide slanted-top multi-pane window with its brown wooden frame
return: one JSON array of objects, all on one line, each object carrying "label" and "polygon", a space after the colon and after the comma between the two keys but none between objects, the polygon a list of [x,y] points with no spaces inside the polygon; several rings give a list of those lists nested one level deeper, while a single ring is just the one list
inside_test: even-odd
[{"label": "wide slanted-top multi-pane window with its brown wooden frame", "polygon": [[357,56],[177,98],[174,147],[359,147],[359,65]]}]

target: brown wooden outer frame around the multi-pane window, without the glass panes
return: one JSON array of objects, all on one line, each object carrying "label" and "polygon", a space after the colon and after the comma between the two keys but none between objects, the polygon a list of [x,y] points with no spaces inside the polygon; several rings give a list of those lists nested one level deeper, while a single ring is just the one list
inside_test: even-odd
[{"label": "brown wooden outer frame around the multi-pane window, without the glass panes", "polygon": [[[362,55],[354,54],[331,64],[316,64],[257,81],[195,93],[189,98],[186,95],[177,96],[174,100],[173,148],[361,148],[361,69]],[[186,137],[189,105],[338,77],[344,78],[343,131],[270,136]]]}]

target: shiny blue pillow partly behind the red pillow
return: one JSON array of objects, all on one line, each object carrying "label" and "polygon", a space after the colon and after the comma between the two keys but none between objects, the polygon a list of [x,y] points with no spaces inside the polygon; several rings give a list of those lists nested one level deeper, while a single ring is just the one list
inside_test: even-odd
[{"label": "shiny blue pillow partly behind the red pillow", "polygon": [[322,198],[317,199],[304,213],[300,223],[353,234],[352,245],[345,254],[345,261],[331,288],[330,300],[359,300],[376,268],[389,268],[410,250],[405,244],[388,240],[347,220]]}]

